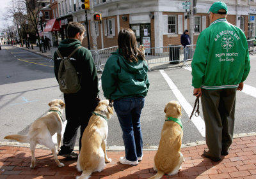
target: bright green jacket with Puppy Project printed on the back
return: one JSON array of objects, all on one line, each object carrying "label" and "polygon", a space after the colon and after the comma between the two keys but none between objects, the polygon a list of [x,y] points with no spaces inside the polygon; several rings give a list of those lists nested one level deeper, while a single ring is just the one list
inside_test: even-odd
[{"label": "bright green jacket with Puppy Project printed on the back", "polygon": [[250,71],[244,32],[225,18],[215,20],[200,33],[191,66],[195,88],[237,88]]}]

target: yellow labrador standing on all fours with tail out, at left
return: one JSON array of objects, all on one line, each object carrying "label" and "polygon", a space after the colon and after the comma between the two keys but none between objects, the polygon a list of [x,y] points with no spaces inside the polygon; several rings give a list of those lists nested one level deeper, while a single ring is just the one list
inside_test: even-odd
[{"label": "yellow labrador standing on all fours with tail out, at left", "polygon": [[29,127],[29,132],[26,136],[22,136],[19,134],[5,136],[6,140],[17,140],[20,143],[30,143],[31,150],[31,168],[35,168],[35,148],[36,143],[41,145],[45,145],[50,148],[54,160],[59,167],[63,167],[64,164],[58,160],[56,154],[56,148],[52,141],[52,136],[57,132],[57,143],[58,150],[60,150],[60,142],[61,142],[61,130],[62,130],[62,112],[63,108],[65,108],[65,103],[61,99],[54,99],[51,103],[48,104],[50,109],[48,113],[41,118],[38,118],[31,124]]}]

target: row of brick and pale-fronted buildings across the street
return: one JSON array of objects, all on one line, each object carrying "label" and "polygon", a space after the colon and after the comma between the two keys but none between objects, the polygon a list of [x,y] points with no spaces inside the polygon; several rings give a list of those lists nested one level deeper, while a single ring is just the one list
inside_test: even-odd
[{"label": "row of brick and pale-fronted buildings across the street", "polygon": [[[217,0],[196,3],[194,16],[194,44],[200,32],[209,26],[208,10]],[[228,6],[227,20],[243,29],[248,38],[255,36],[256,3],[255,0],[223,0]],[[88,11],[88,29],[92,44],[92,29],[97,34],[97,49],[117,45],[118,32],[123,27],[131,28],[138,45],[145,47],[166,47],[180,45],[180,36],[189,29],[189,10],[186,12],[182,3],[189,1],[176,0],[93,0],[93,12],[102,14],[102,21],[92,28],[91,14]],[[58,10],[56,7],[58,6]],[[52,14],[60,21],[58,41],[67,38],[67,24],[70,21],[84,24],[85,14],[78,0],[51,0]],[[54,9],[54,10],[53,10]],[[54,18],[54,17],[53,17]],[[85,25],[85,24],[84,24]],[[85,25],[86,26],[86,25]],[[88,47],[87,37],[83,46]],[[91,45],[92,46],[92,45]]]}]

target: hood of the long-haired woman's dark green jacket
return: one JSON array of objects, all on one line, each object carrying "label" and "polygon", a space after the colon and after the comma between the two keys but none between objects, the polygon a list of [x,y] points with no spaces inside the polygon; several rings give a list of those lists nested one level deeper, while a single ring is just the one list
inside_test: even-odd
[{"label": "hood of the long-haired woman's dark green jacket", "polygon": [[141,70],[145,70],[144,68],[147,68],[147,66],[145,66],[145,63],[142,59],[138,59],[138,62],[129,62],[127,61],[124,56],[122,55],[122,52],[119,52],[119,50],[117,49],[116,52],[112,52],[111,54],[113,55],[117,55],[119,62],[120,62],[120,66],[125,70],[125,71],[130,71],[131,73],[138,73]]}]

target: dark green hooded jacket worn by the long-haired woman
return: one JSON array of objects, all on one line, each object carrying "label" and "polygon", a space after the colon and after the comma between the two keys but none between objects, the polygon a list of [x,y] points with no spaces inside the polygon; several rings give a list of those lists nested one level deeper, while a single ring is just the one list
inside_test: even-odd
[{"label": "dark green hooded jacket worn by the long-haired woman", "polygon": [[113,52],[101,76],[106,99],[147,96],[149,82],[147,62],[128,62],[122,54]]}]

